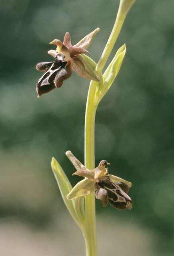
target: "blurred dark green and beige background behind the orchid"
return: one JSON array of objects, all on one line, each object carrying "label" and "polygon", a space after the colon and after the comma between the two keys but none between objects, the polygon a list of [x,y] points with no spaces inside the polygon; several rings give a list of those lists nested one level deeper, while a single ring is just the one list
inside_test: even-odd
[{"label": "blurred dark green and beige background behind the orchid", "polygon": [[[84,161],[89,81],[75,73],[37,99],[37,62],[51,61],[49,42],[66,31],[75,44],[97,27],[96,62],[119,1],[0,1],[0,251],[3,256],[84,255],[50,162],[72,185],[80,178],[66,150]],[[116,50],[127,54],[96,115],[96,165],[133,183],[129,212],[96,202],[99,255],[174,255],[174,1],[136,1]]]}]

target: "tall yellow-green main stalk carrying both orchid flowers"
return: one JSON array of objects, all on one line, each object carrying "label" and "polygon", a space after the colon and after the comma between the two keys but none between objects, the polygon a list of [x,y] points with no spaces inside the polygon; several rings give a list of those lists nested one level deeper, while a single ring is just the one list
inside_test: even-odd
[{"label": "tall yellow-green main stalk carrying both orchid flowers", "polygon": [[[119,10],[113,26],[111,35],[104,48],[102,56],[96,66],[96,73],[101,76],[101,72],[109,58],[111,50],[117,40],[126,14],[133,5],[135,0],[120,0]],[[88,91],[88,98],[86,102],[85,114],[85,166],[88,169],[95,168],[95,117],[98,103],[96,103],[96,93],[102,84],[91,81]],[[86,256],[97,256],[96,244],[96,212],[95,212],[95,195],[94,193],[86,196],[85,198],[85,223],[86,232],[84,233],[86,243]]]}]

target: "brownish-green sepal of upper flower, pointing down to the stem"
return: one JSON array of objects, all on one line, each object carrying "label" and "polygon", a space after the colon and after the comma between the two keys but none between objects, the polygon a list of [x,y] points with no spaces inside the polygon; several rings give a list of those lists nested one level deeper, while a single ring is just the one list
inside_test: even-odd
[{"label": "brownish-green sepal of upper flower, pointing down to the stem", "polygon": [[82,55],[73,58],[72,69],[81,77],[100,82],[100,78],[94,73]]}]

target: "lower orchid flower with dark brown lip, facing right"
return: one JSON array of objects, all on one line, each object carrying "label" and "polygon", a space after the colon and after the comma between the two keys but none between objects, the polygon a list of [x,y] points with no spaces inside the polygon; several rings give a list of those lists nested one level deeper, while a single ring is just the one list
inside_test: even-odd
[{"label": "lower orchid flower with dark brown lip, facing right", "polygon": [[109,175],[108,168],[106,168],[109,163],[106,160],[102,160],[94,170],[88,170],[70,151],[66,152],[66,156],[77,170],[72,175],[84,177],[84,180],[78,182],[68,193],[66,196],[68,200],[87,196],[96,191],[96,199],[101,200],[103,206],[107,206],[109,202],[111,206],[118,210],[131,210],[132,200],[127,195],[131,182]]}]

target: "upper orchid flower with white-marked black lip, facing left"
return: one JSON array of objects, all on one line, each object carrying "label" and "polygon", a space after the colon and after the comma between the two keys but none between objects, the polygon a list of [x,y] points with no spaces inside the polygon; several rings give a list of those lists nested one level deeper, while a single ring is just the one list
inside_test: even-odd
[{"label": "upper orchid flower with white-marked black lip, facing left", "polygon": [[90,46],[99,30],[99,28],[96,28],[74,46],[71,44],[71,38],[68,32],[65,33],[63,42],[58,39],[50,42],[50,44],[57,46],[56,50],[48,51],[48,54],[53,56],[55,60],[53,62],[41,62],[36,65],[38,71],[45,72],[36,86],[38,97],[50,92],[54,88],[61,87],[63,81],[72,75],[72,70],[83,78],[100,82],[100,78],[94,73],[94,70],[82,56],[82,54],[89,54],[86,49]]}]

